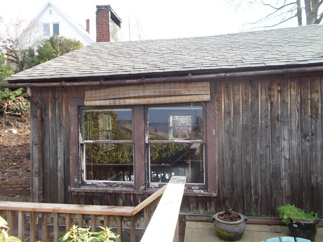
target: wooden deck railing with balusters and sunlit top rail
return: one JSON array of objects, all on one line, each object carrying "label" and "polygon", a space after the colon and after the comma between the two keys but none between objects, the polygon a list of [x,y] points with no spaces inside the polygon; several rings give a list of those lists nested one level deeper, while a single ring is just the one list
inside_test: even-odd
[{"label": "wooden deck railing with balusters and sunlit top rail", "polygon": [[[14,234],[22,241],[37,241],[37,237],[42,237],[42,241],[45,242],[49,232],[48,229],[52,229],[50,234],[53,236],[53,241],[57,241],[62,234],[69,231],[69,227],[72,224],[78,225],[79,227],[91,226],[91,231],[95,231],[97,226],[103,227],[115,227],[117,228],[117,233],[120,234],[121,240],[125,241],[122,238],[123,229],[130,229],[130,241],[136,241],[136,221],[143,219],[144,228],[149,227],[145,234],[151,232],[150,227],[162,226],[157,225],[158,222],[149,223],[151,213],[154,208],[156,208],[157,199],[164,194],[165,190],[167,196],[163,196],[159,204],[164,204],[164,208],[160,208],[159,204],[156,208],[158,210],[167,209],[168,213],[173,211],[175,214],[166,215],[169,216],[167,219],[167,227],[170,228],[172,222],[171,231],[175,231],[176,223],[173,225],[176,217],[176,222],[179,214],[179,208],[177,211],[173,209],[173,206],[165,208],[168,201],[173,203],[173,197],[178,197],[176,199],[176,206],[180,206],[180,201],[182,200],[182,195],[178,191],[179,181],[185,184],[185,177],[173,176],[170,180],[170,183],[157,190],[154,194],[149,196],[138,206],[98,206],[98,205],[74,205],[74,204],[51,204],[51,203],[22,203],[22,202],[1,202],[0,201],[0,215],[5,217],[8,222],[10,235]],[[169,188],[169,189],[167,189]],[[175,189],[176,188],[176,189]],[[184,191],[184,187],[183,187]],[[164,198],[165,197],[165,198]],[[167,201],[166,201],[167,200]],[[158,212],[159,213],[159,212]],[[157,213],[157,214],[158,214]],[[165,214],[165,212],[163,212]],[[160,215],[158,215],[160,216]],[[155,217],[155,215],[153,215]],[[27,222],[28,221],[28,222]],[[154,221],[154,220],[152,220]],[[164,220],[163,220],[164,221]],[[162,222],[162,220],[160,220]],[[148,225],[149,223],[149,225]],[[164,225],[165,225],[164,224]],[[63,231],[62,231],[63,228]],[[174,234],[174,233],[173,233]],[[38,236],[37,236],[38,235]],[[148,235],[144,235],[148,236]],[[148,240],[142,240],[148,241]],[[164,240],[164,241],[173,241]]]}]

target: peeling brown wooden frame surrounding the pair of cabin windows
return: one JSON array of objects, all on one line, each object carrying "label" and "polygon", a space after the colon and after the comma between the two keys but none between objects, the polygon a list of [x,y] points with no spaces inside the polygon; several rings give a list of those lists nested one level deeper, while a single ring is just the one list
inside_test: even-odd
[{"label": "peeling brown wooden frame surrounding the pair of cabin windows", "polygon": [[[213,84],[210,84],[211,88]],[[204,172],[205,172],[205,185],[204,189],[200,186],[188,186],[186,185],[185,193],[189,196],[206,196],[214,197],[217,196],[218,186],[217,186],[217,161],[216,161],[216,120],[214,120],[214,115],[216,113],[215,105],[215,94],[210,93],[210,101],[204,102],[204,111],[203,115],[206,119],[203,120],[203,136],[206,143],[204,149]],[[187,104],[187,103],[186,103]],[[161,104],[160,104],[161,105]],[[158,106],[160,106],[158,105]],[[165,104],[167,105],[167,104]],[[176,105],[185,105],[185,103],[177,104],[168,104],[168,106]],[[71,192],[86,192],[97,190],[110,191],[115,193],[137,193],[137,194],[151,194],[155,189],[150,188],[150,185],[147,180],[147,152],[146,152],[146,142],[145,142],[145,120],[146,112],[145,106],[150,105],[132,105],[125,106],[131,107],[133,113],[133,142],[134,142],[134,175],[135,175],[135,184],[134,186],[125,186],[121,184],[120,186],[116,182],[110,182],[105,184],[104,187],[85,185],[82,182],[81,174],[81,153],[79,145],[79,132],[80,132],[80,107],[84,105],[84,98],[71,98],[71,125],[70,132],[70,146],[77,147],[70,149],[70,191]],[[151,105],[152,106],[152,105]],[[155,104],[154,104],[155,106]],[[96,108],[97,106],[86,106],[87,108]],[[109,106],[110,107],[110,106]],[[111,106],[113,108],[114,106]],[[120,106],[119,106],[120,107]],[[136,115],[134,115],[136,113]],[[77,125],[78,124],[78,125]],[[144,151],[144,152],[143,152]],[[145,169],[145,172],[142,172],[142,169]],[[114,185],[114,186],[113,186]],[[118,187],[119,186],[119,187]],[[164,184],[159,184],[158,187],[162,187]],[[124,187],[123,189],[120,189]]]}]

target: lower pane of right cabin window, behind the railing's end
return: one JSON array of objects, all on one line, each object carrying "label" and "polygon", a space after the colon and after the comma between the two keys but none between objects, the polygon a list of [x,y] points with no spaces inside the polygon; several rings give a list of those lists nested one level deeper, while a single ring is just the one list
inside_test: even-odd
[{"label": "lower pane of right cabin window, behind the railing's end", "polygon": [[203,144],[149,144],[150,182],[168,183],[185,175],[186,183],[204,184]]}]

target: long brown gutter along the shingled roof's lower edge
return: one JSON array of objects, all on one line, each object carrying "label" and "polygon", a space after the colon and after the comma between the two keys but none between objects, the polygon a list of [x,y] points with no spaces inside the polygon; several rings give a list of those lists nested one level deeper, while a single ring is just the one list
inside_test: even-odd
[{"label": "long brown gutter along the shingled roof's lower edge", "polygon": [[[241,78],[255,78],[260,76],[286,76],[301,73],[323,72],[323,66],[305,67],[305,68],[290,68],[290,69],[275,69],[264,71],[247,71],[247,72],[225,72],[217,74],[206,75],[191,75],[177,76],[177,77],[160,77],[160,78],[140,78],[129,80],[106,80],[101,81],[83,81],[83,82],[30,82],[30,83],[5,83],[0,84],[2,88],[63,88],[63,87],[103,87],[103,86],[121,86],[121,85],[139,85],[139,84],[153,84],[153,83],[171,83],[171,82],[205,82],[205,81],[219,81],[226,79],[241,79]],[[86,77],[84,77],[86,78]],[[35,81],[35,80],[34,80]]]}]

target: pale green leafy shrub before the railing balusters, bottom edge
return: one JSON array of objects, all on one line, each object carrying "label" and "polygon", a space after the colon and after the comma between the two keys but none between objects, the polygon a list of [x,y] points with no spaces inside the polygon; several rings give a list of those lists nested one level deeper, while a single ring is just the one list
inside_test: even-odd
[{"label": "pale green leafy shrub before the railing balusters, bottom edge", "polygon": [[111,231],[110,228],[101,226],[99,228],[101,231],[90,232],[90,227],[79,228],[73,225],[69,232],[59,238],[58,242],[121,242],[120,235]]}]

